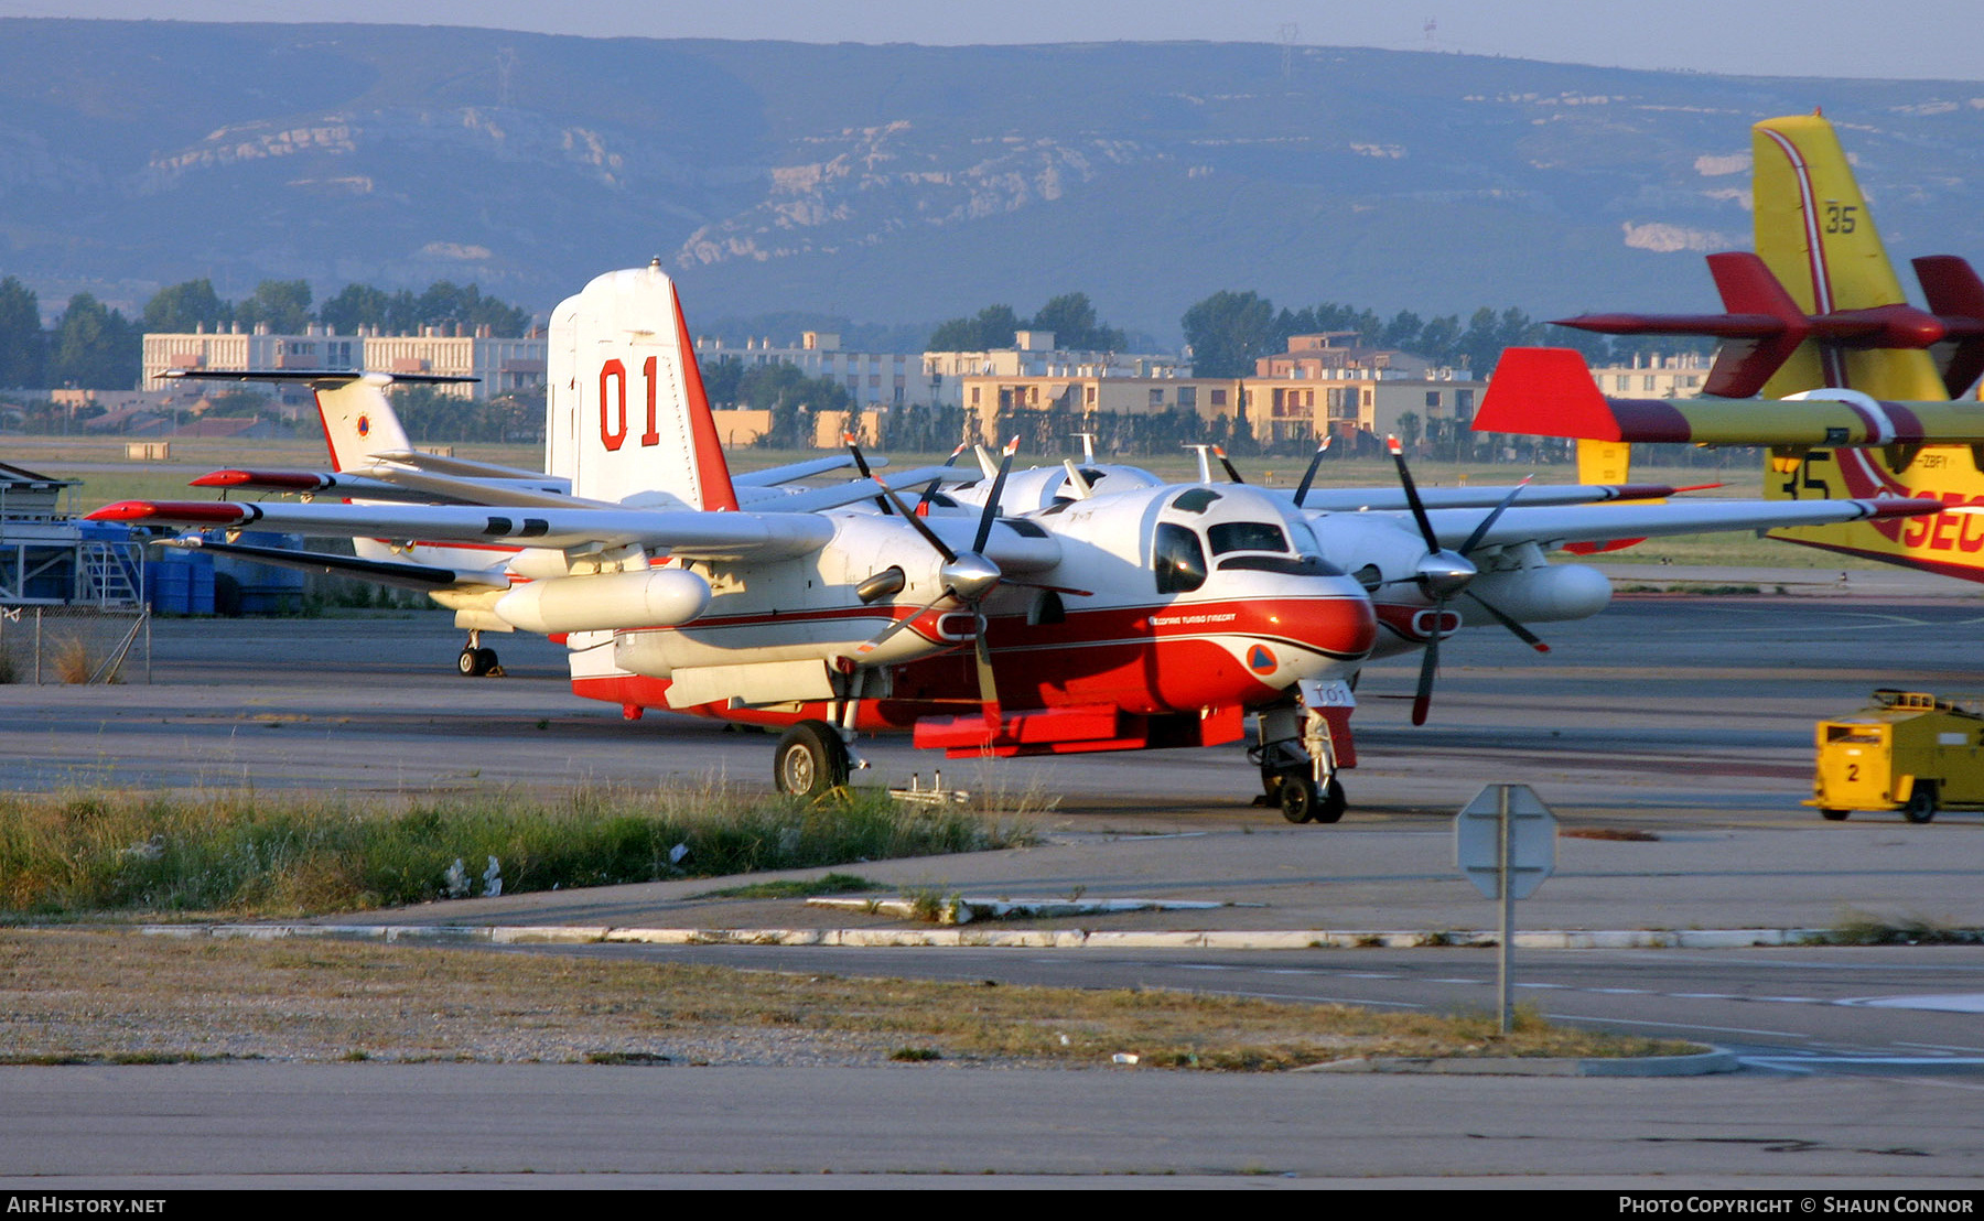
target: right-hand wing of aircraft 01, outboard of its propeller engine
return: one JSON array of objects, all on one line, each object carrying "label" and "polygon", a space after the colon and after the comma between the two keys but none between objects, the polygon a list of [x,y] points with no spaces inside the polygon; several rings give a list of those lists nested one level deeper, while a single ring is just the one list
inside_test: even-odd
[{"label": "right-hand wing of aircraft 01, outboard of its propeller engine", "polygon": [[[1551,549],[1563,543],[1915,517],[1946,507],[1940,500],[1694,500],[1605,507],[1524,507],[1518,501],[1496,517],[1476,547],[1538,543]],[[1480,527],[1486,513],[1478,509],[1430,509],[1426,517],[1442,547],[1458,547]]]}]

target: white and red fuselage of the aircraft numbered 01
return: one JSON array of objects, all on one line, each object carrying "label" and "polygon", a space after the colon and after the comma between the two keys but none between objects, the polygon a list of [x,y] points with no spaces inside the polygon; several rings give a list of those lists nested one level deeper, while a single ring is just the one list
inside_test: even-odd
[{"label": "white and red fuselage of the aircraft numbered 01", "polygon": [[[940,557],[871,511],[835,513],[835,541],[780,565],[696,565],[714,597],[694,622],[629,626],[575,642],[581,694],[667,706],[679,670],[804,662],[875,676],[863,727],[905,727],[978,706],[978,620],[938,583]],[[962,547],[970,517],[932,517]],[[990,553],[1006,583],[982,605],[1006,708],[1113,706],[1131,716],[1238,710],[1280,700],[1303,678],[1345,678],[1377,642],[1363,587],[1315,557],[1284,503],[1250,488],[1133,488],[1002,519]],[[903,573],[893,597],[857,587]],[[1024,585],[1022,585],[1024,583]],[[905,630],[861,652],[891,624]],[[611,664],[605,662],[611,654]],[[802,720],[817,700],[712,702],[704,716]]]}]

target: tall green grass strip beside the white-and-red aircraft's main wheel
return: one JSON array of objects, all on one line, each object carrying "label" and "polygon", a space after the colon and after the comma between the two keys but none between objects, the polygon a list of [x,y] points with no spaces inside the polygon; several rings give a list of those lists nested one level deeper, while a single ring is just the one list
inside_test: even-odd
[{"label": "tall green grass strip beside the white-and-red aircraft's main wheel", "polygon": [[974,852],[1022,827],[954,809],[706,789],[490,791],[393,807],[230,791],[0,795],[0,916],[298,916],[488,890],[611,886]]}]

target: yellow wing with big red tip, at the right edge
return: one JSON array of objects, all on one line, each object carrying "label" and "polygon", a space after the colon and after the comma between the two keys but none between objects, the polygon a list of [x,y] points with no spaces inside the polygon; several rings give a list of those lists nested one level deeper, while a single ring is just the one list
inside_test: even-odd
[{"label": "yellow wing with big red tip, at the right edge", "polygon": [[1502,353],[1476,432],[1698,446],[1889,446],[1984,442],[1980,402],[1895,402],[1859,390],[1792,398],[1607,398],[1585,359],[1559,347]]}]

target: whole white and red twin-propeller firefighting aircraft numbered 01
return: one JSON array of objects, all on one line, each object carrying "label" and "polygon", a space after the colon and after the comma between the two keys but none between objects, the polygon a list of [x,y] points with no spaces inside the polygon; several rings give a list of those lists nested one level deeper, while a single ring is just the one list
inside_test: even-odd
[{"label": "whole white and red twin-propeller firefighting aircraft numbered 01", "polygon": [[[371,424],[353,420],[361,434]],[[1597,571],[1542,551],[1922,511],[1514,505],[1520,488],[1426,507],[1409,482],[1353,496],[1403,509],[1323,511],[1250,486],[1081,470],[1061,470],[1063,488],[1030,511],[1014,511],[1030,498],[1006,500],[1004,470],[964,490],[974,511],[925,515],[879,484],[859,505],[746,509],[655,266],[601,276],[554,313],[548,452],[550,480],[484,472],[454,490],[484,503],[125,501],[93,517],[385,539],[409,559],[375,563],[452,597],[464,626],[488,614],[563,636],[581,696],[629,718],[669,708],[788,725],[774,765],[788,791],[845,781],[859,731],[911,729],[954,755],[1123,751],[1240,741],[1252,712],[1250,751],[1284,815],[1335,821],[1335,771],[1353,761],[1341,680],[1375,648],[1426,648],[1423,720],[1436,642],[1460,622],[1532,638],[1520,620],[1605,605]],[[1095,486],[1111,480],[1121,490]],[[452,569],[421,565],[423,545],[516,551],[500,569]]]}]

